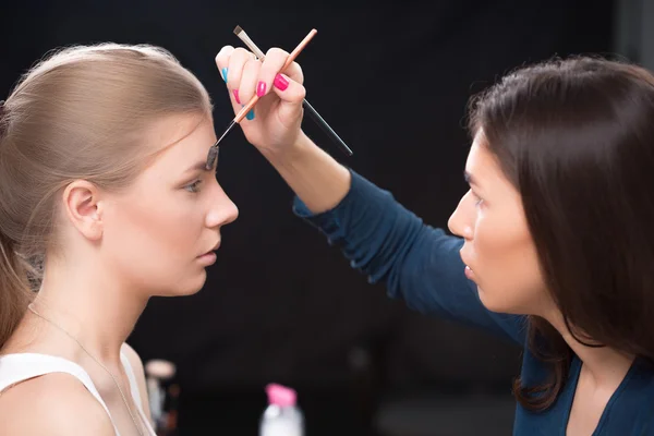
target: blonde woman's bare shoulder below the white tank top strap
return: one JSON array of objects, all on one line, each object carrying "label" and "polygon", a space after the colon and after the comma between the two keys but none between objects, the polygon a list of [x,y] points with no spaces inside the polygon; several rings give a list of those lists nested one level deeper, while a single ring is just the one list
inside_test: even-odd
[{"label": "blonde woman's bare shoulder below the white tank top strap", "polygon": [[98,435],[116,432],[105,408],[74,376],[47,374],[0,395],[0,435]]}]

